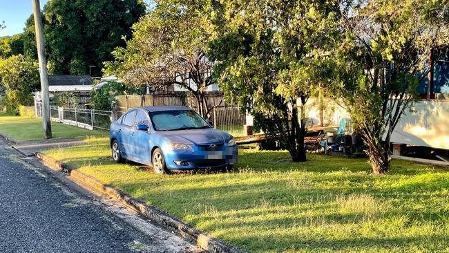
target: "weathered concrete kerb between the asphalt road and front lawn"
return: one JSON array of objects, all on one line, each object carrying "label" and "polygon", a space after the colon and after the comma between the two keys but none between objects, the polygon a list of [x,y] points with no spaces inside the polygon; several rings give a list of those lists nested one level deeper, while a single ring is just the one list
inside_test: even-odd
[{"label": "weathered concrete kerb between the asphalt road and front lawn", "polygon": [[196,243],[198,247],[202,250],[206,250],[211,253],[243,253],[244,251],[233,247],[218,238],[210,236],[206,232],[192,227],[191,225],[184,223],[179,218],[164,212],[163,210],[153,206],[146,205],[144,201],[137,198],[133,198],[128,194],[125,194],[120,189],[115,189],[111,185],[104,184],[103,182],[97,180],[84,174],[69,165],[64,164],[64,162],[59,162],[54,158],[46,156],[44,153],[37,152],[37,158],[39,158],[44,165],[47,165],[51,169],[57,171],[62,171],[70,174],[70,180],[73,180],[78,185],[90,188],[93,191],[97,191],[99,194],[109,196],[119,201],[123,205],[132,207],[142,216],[149,218],[151,221],[170,229],[175,234],[178,234],[187,241],[191,243]]}]

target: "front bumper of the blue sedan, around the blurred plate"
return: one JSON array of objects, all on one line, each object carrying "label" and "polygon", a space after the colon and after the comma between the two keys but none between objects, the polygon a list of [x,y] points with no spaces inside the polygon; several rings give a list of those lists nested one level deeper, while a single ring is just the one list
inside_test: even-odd
[{"label": "front bumper of the blue sedan, around the blurred plate", "polygon": [[[217,151],[204,151],[200,147],[195,147],[193,151],[163,150],[163,152],[167,169],[213,169],[236,164],[238,147],[224,146]],[[180,162],[182,165],[179,165]]]}]

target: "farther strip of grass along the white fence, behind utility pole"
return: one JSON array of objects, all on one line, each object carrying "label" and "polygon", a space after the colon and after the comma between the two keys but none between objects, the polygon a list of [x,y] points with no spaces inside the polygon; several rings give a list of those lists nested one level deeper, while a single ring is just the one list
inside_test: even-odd
[{"label": "farther strip of grass along the white fence, behind utility pole", "polygon": [[[82,140],[88,136],[106,136],[108,134],[106,131],[90,131],[56,122],[51,122],[51,125],[54,139]],[[19,142],[44,139],[41,119],[9,116],[5,113],[0,114],[0,133]]]}]

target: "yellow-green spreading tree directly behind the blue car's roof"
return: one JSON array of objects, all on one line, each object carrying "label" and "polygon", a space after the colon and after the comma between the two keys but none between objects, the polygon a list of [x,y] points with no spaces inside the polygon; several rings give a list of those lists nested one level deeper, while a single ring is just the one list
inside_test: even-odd
[{"label": "yellow-green spreading tree directly behind the blue car's roof", "polygon": [[206,54],[210,9],[204,0],[155,1],[155,8],[133,26],[126,48],[115,49],[106,73],[154,91],[173,84],[186,88],[197,100],[198,113],[207,117],[204,91],[213,84],[213,62]]}]

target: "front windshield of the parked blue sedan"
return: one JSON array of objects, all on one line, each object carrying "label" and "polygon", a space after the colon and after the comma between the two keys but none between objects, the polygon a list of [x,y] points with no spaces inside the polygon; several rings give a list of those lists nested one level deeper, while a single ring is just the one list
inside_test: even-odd
[{"label": "front windshield of the parked blue sedan", "polygon": [[150,113],[150,117],[156,131],[210,128],[195,111],[157,111]]}]

